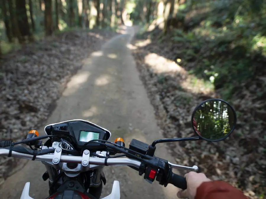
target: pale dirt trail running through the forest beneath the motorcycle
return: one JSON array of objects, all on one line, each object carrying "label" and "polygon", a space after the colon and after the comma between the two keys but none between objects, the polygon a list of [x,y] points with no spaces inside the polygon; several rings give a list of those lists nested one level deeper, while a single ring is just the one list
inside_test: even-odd
[{"label": "pale dirt trail running through the forest beneath the motorcycle", "polygon": [[[89,120],[110,130],[111,141],[122,136],[126,146],[132,138],[151,143],[163,137],[127,48],[135,29],[128,27],[125,33],[84,60],[82,69],[71,78],[47,124],[68,119]],[[157,147],[156,155],[174,162],[163,144]],[[1,198],[19,198],[25,182],[31,182],[31,197],[47,197],[48,182],[41,178],[44,171],[40,162],[29,161],[23,170],[6,180],[0,190]],[[177,188],[172,185],[164,188],[156,182],[151,185],[129,167],[105,167],[104,171],[107,184],[102,197],[111,192],[113,180],[119,180],[121,198],[176,198]]]}]

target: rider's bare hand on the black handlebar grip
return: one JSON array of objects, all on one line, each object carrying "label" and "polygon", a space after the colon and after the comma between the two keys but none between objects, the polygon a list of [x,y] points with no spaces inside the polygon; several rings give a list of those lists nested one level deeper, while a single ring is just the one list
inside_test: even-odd
[{"label": "rider's bare hand on the black handlebar grip", "polygon": [[203,173],[189,172],[185,175],[187,189],[181,190],[177,193],[178,198],[189,198],[194,199],[197,193],[197,188],[202,182],[211,181]]}]

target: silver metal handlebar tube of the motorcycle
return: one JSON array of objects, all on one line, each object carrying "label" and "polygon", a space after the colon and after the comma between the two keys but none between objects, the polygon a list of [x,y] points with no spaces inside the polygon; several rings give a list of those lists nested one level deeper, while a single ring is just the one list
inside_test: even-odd
[{"label": "silver metal handlebar tube of the motorcycle", "polygon": [[[0,156],[7,156],[9,154],[9,149],[0,149]],[[12,151],[12,157],[20,157],[24,159],[32,159],[33,155],[25,154],[25,153],[19,153]],[[45,154],[45,155],[37,155],[35,160],[39,161],[51,161],[53,160],[54,155],[53,154]],[[89,164],[94,165],[105,165],[104,164],[105,158],[96,158],[96,157],[90,157]],[[71,156],[71,155],[61,155],[60,162],[69,162],[69,163],[81,163],[82,162],[82,156]],[[141,162],[135,159],[129,159],[129,158],[109,158],[107,159],[107,164],[110,166],[114,165],[125,165],[125,166],[132,166],[139,168]]]}]

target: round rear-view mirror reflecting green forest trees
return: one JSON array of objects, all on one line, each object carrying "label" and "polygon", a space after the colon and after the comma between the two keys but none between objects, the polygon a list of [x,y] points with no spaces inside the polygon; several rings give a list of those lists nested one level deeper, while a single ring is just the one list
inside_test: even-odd
[{"label": "round rear-view mirror reflecting green forest trees", "polygon": [[228,102],[210,99],[197,106],[192,115],[193,129],[207,141],[221,141],[228,137],[236,124],[236,112]]}]

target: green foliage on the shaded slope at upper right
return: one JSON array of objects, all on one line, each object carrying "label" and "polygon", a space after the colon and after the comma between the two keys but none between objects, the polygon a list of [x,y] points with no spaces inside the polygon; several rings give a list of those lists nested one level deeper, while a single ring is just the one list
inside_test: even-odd
[{"label": "green foliage on the shaded slope at upper right", "polygon": [[266,56],[266,4],[262,0],[192,1],[176,17],[186,22],[173,30],[171,40],[184,44],[177,52],[190,70],[225,88],[226,98],[246,80],[255,77]]}]

